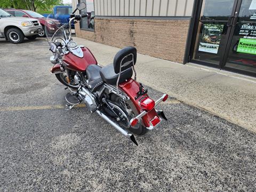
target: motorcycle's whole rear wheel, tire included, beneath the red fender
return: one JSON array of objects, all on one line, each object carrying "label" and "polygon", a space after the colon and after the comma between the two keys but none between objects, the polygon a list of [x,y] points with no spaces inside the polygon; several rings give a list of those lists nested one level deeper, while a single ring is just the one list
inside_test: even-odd
[{"label": "motorcycle's whole rear wheel, tire included, beneath the red fender", "polygon": [[114,111],[116,113],[119,113],[122,119],[120,119],[119,122],[117,122],[120,126],[125,127],[127,130],[130,130],[132,133],[137,135],[143,135],[147,133],[147,129],[145,126],[138,123],[135,126],[130,125],[130,120],[137,116],[137,109],[135,109],[133,103],[131,101],[124,101],[122,98],[113,95],[114,97],[111,98],[111,101],[114,101],[113,103],[117,105],[119,108],[122,109],[123,113],[125,113],[126,116],[124,116],[118,109],[114,108]]}]

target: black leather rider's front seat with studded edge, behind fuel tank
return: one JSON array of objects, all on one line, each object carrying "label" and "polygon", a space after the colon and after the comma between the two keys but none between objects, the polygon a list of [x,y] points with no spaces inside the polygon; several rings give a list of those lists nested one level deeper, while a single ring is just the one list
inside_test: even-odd
[{"label": "black leather rider's front seat with studded edge, behind fuel tank", "polygon": [[101,67],[98,65],[89,65],[86,68],[86,74],[89,81],[89,87],[92,91],[96,91],[97,88],[103,84],[102,78],[100,76]]}]

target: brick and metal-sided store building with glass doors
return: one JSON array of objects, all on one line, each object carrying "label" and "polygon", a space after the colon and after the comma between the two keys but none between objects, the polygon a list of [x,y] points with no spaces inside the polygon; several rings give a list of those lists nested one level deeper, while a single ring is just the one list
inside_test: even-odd
[{"label": "brick and metal-sided store building with glass doors", "polygon": [[179,63],[256,73],[256,0],[73,0],[76,35]]}]

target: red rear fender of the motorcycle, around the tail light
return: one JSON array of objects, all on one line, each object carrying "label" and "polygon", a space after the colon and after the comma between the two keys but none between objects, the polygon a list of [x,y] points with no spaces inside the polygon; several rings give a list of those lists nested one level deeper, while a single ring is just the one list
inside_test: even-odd
[{"label": "red rear fender of the motorcycle, around the tail light", "polygon": [[[133,102],[133,105],[137,109],[138,114],[141,114],[143,112],[143,109],[141,108],[141,106],[139,104],[139,100],[141,99],[141,97],[148,97],[148,95],[144,94],[144,95],[138,97],[137,99],[135,99],[135,97],[137,96],[137,93],[140,90],[140,84],[137,81],[134,81],[134,79],[130,78],[126,82],[121,83],[119,85],[119,88],[128,95],[128,97]],[[152,119],[154,119],[156,116],[159,118],[155,108],[153,108],[146,115],[144,115],[141,119],[143,121],[143,124],[146,127],[150,127],[151,126],[150,121]]]}]

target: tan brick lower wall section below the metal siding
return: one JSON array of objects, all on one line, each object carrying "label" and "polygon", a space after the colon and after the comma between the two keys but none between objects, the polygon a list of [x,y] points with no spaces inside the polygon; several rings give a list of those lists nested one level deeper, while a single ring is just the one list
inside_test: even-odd
[{"label": "tan brick lower wall section below the metal siding", "polygon": [[189,20],[95,17],[95,31],[75,25],[76,36],[115,47],[135,46],[139,53],[183,63]]}]

